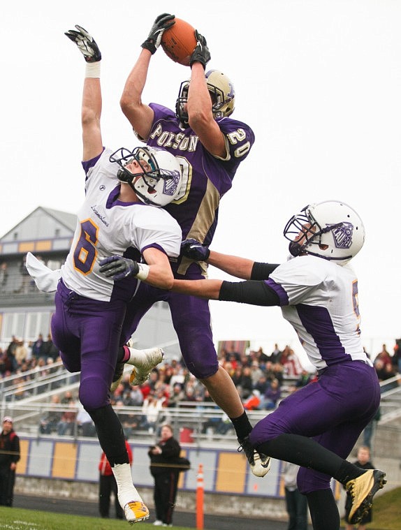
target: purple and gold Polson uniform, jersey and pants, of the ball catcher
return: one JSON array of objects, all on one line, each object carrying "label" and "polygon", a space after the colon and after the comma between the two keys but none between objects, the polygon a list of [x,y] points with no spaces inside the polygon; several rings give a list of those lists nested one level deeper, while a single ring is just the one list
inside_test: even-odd
[{"label": "purple and gold Polson uniform, jersey and pants, of the ball catcher", "polygon": [[[210,244],[217,226],[220,199],[231,189],[238,166],[254,144],[254,133],[247,124],[235,119],[217,119],[227,147],[227,156],[221,159],[207,152],[189,126],[180,127],[173,110],[156,103],[150,107],[154,121],[147,145],[163,147],[177,156],[182,167],[181,193],[165,209],[180,224],[183,240],[193,237]],[[182,256],[170,259],[170,264],[177,279],[202,279],[207,272],[205,263]],[[215,374],[219,365],[207,300],[141,284],[135,304],[129,304],[127,309],[123,336],[131,337],[140,319],[158,300],[170,305],[182,356],[191,373],[199,379]]]}]

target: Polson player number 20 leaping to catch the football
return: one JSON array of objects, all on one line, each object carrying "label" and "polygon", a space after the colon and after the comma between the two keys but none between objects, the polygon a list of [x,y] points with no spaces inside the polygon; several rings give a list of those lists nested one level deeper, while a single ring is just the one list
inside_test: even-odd
[{"label": "Polson player number 20 leaping to catch the football", "polygon": [[[180,224],[183,239],[194,237],[210,244],[217,226],[220,199],[231,189],[235,172],[254,143],[254,133],[247,124],[229,117],[235,104],[233,84],[220,71],[205,73],[210,52],[205,38],[198,32],[198,45],[190,61],[191,80],[181,84],[175,110],[141,101],[150,59],[163,31],[174,23],[173,18],[174,15],[166,13],[156,18],[126,80],[121,106],[138,138],[147,145],[167,149],[180,160],[182,189],[166,210]],[[170,260],[170,264],[175,278],[203,279],[207,273],[205,262],[185,256]],[[140,319],[158,300],[170,306],[189,371],[202,381],[214,402],[231,418],[252,472],[264,476],[270,462],[264,455],[258,455],[247,440],[251,425],[231,377],[219,366],[208,302],[141,285],[135,306],[127,311],[123,334],[131,337]]]}]

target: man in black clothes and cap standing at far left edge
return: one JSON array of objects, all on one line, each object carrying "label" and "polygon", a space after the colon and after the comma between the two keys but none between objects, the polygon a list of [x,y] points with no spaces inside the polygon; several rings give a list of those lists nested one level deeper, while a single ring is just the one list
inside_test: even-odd
[{"label": "man in black clothes and cap standing at far left edge", "polygon": [[20,459],[20,439],[13,429],[13,418],[3,418],[0,434],[0,506],[13,506],[15,468]]}]

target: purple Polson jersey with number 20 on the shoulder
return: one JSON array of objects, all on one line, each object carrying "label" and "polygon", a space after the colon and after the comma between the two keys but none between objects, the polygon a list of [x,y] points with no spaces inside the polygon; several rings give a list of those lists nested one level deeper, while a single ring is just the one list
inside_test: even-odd
[{"label": "purple Polson jersey with number 20 on the shoulder", "polygon": [[[182,167],[181,193],[166,206],[178,221],[182,239],[194,239],[210,244],[217,226],[219,202],[231,189],[238,165],[247,157],[255,140],[251,128],[231,118],[217,119],[226,138],[226,159],[212,156],[191,128],[182,129],[175,112],[162,105],[150,103],[154,121],[147,145],[163,147],[180,160]],[[171,264],[173,270],[184,274],[189,262]]]}]

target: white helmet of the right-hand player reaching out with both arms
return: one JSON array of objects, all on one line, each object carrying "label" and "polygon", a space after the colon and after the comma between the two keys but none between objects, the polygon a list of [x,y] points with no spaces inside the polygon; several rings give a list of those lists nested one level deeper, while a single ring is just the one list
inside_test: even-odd
[{"label": "white helmet of the right-hand player reaching out with both arms", "polygon": [[284,237],[292,256],[312,254],[347,263],[365,241],[365,227],[349,205],[337,200],[305,206],[286,223]]}]

